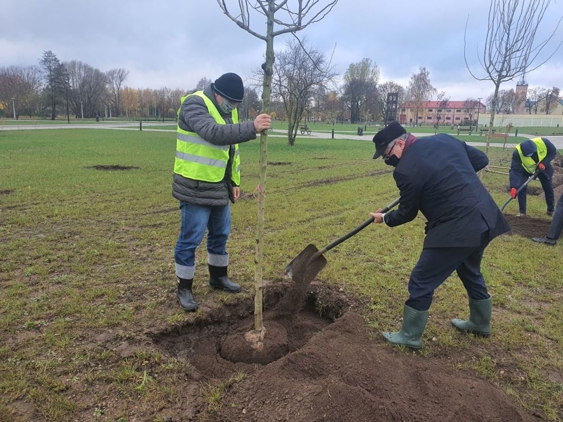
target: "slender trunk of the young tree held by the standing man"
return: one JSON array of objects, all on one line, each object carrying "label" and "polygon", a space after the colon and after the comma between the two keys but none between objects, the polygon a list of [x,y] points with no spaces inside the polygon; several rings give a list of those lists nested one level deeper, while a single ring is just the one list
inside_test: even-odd
[{"label": "slender trunk of the young tree held by the standing man", "polygon": [[[262,84],[262,113],[270,112],[270,96],[272,74],[274,73],[274,0],[268,4],[268,21],[266,30],[266,63],[264,65],[264,81]],[[268,160],[268,135],[260,133],[260,185],[258,192],[258,218],[256,222],[256,256],[254,257],[254,330],[262,331],[262,273],[264,250],[264,216],[266,210],[266,169]]]}]

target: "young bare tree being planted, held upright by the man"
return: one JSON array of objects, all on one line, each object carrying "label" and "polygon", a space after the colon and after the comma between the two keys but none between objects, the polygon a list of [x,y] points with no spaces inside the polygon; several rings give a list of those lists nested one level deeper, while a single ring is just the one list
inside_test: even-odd
[{"label": "young bare tree being planted, held upright by the man", "polygon": [[[288,0],[233,0],[234,7],[227,7],[227,0],[217,0],[217,4],[225,15],[235,24],[248,33],[254,35],[266,43],[266,61],[262,64],[264,78],[262,82],[262,113],[270,112],[270,96],[272,86],[272,74],[274,74],[274,38],[278,35],[292,33],[307,28],[307,26],[322,20],[332,10],[338,0],[296,0],[294,8],[290,8]],[[231,14],[230,10],[236,10]],[[251,14],[258,16],[258,22],[263,24],[266,18],[266,33],[262,35],[256,29],[251,28]],[[254,330],[263,333],[262,323],[262,255],[264,236],[264,216],[266,203],[266,170],[268,155],[267,133],[260,134],[260,184],[258,190],[258,218],[256,223],[256,257],[254,263]]]}]

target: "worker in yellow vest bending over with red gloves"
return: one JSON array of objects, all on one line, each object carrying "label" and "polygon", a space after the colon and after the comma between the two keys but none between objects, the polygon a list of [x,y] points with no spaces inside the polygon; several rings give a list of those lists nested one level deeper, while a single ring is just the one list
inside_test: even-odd
[{"label": "worker in yellow vest bending over with red gloves", "polygon": [[[519,143],[512,152],[510,165],[510,194],[516,197],[516,190],[524,184],[536,170],[541,170],[538,179],[542,183],[546,195],[547,215],[553,216],[555,197],[553,195],[553,167],[551,161],[555,158],[557,149],[547,138],[531,138]],[[518,216],[526,215],[526,187],[518,194]]]}]

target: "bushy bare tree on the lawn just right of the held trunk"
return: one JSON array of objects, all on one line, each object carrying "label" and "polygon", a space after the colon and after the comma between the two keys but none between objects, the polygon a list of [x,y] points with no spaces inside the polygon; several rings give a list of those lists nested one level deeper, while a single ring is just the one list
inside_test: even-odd
[{"label": "bushy bare tree on the lawn just right of the held trunk", "polygon": [[336,77],[327,57],[302,42],[289,41],[274,62],[272,94],[282,99],[288,120],[288,145],[295,145],[303,111],[316,87],[326,88]]}]

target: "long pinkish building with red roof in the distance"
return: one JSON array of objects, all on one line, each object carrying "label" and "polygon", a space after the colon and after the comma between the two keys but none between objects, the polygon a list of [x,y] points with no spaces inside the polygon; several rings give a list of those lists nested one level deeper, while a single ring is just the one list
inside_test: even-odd
[{"label": "long pinkish building with red roof in the distance", "polygon": [[470,125],[475,124],[480,113],[486,113],[486,106],[477,100],[425,101],[422,104],[406,101],[399,107],[399,122],[406,125]]}]

